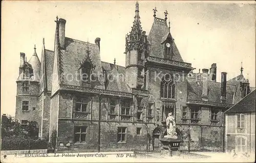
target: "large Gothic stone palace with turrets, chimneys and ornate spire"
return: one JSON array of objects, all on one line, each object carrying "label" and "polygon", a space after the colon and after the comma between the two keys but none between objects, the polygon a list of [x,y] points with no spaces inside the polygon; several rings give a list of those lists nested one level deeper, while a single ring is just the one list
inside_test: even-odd
[{"label": "large Gothic stone palace with turrets, chimneys and ornate spire", "polygon": [[[216,64],[194,73],[170,34],[167,11],[164,18],[156,12],[147,36],[136,3],[124,40],[125,67],[100,60],[100,38],[89,43],[66,37],[66,20],[57,18],[54,50],[43,43],[41,63],[36,52],[36,64],[21,60],[21,77],[28,67],[40,78],[17,80],[16,117],[38,120],[40,136],[56,130],[59,151],[157,150],[171,112],[183,135],[182,148],[223,151],[224,112],[251,88],[240,82],[242,70],[228,81],[222,72],[221,83]],[[20,89],[26,82],[25,94]],[[29,101],[26,112],[23,100]]]}]

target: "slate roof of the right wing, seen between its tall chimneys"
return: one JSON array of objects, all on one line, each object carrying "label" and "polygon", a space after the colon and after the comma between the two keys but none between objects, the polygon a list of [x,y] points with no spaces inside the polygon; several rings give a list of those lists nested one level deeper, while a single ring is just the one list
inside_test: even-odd
[{"label": "slate roof of the right wing, seen between its tall chimneys", "polygon": [[[188,84],[188,96],[187,99],[202,100],[202,80],[189,79]],[[221,83],[208,81],[208,101],[220,103],[221,97]],[[227,85],[226,89],[226,103],[232,104],[233,94],[236,91],[236,87],[233,85]]]}]

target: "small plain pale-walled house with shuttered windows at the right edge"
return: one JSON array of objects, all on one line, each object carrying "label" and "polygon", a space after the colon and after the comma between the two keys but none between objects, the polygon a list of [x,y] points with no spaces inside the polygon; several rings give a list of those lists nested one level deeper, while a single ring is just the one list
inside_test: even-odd
[{"label": "small plain pale-walled house with shuttered windows at the right edge", "polygon": [[225,151],[255,153],[255,90],[225,112]]}]

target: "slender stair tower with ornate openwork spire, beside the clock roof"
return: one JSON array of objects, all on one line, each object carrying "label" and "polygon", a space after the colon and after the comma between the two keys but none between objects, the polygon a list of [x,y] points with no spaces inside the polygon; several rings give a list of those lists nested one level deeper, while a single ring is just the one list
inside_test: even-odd
[{"label": "slender stair tower with ornate openwork spire, beside the clock roof", "polygon": [[131,88],[144,89],[145,67],[144,58],[147,55],[147,36],[142,31],[139,3],[136,2],[135,17],[130,34],[125,37],[125,80]]}]

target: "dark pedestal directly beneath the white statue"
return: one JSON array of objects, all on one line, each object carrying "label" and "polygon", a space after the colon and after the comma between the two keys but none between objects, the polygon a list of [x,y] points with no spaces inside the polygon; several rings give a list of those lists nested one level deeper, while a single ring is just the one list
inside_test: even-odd
[{"label": "dark pedestal directly beneath the white statue", "polygon": [[181,137],[176,135],[165,135],[164,138],[160,139],[162,148],[168,150],[169,156],[173,156],[173,151],[177,151],[180,147]]}]

